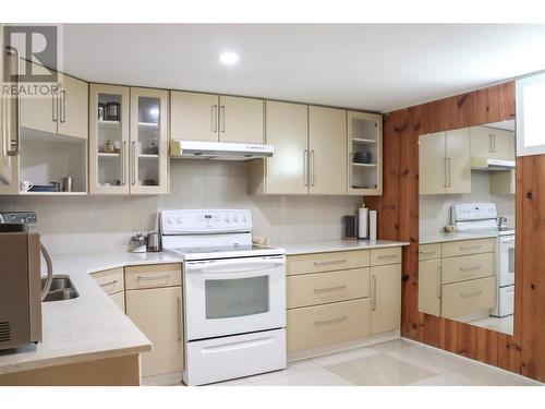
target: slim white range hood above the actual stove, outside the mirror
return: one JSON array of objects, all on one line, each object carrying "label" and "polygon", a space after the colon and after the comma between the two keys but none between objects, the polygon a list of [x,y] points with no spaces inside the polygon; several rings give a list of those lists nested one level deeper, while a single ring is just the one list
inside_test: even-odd
[{"label": "slim white range hood above the actual stove, outside the mirror", "polygon": [[265,144],[170,141],[170,157],[208,160],[250,160],[272,156],[275,147]]}]

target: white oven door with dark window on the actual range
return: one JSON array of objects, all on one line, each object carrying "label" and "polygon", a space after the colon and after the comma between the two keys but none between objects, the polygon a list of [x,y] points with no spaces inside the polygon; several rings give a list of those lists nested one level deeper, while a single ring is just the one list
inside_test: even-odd
[{"label": "white oven door with dark window on the actual range", "polygon": [[286,257],[184,263],[187,340],[286,326]]}]

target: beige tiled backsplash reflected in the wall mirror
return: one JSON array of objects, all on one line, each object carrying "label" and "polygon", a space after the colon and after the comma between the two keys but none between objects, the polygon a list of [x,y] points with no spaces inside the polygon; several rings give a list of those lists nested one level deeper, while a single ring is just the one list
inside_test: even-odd
[{"label": "beige tiled backsplash reflected in the wall mirror", "polygon": [[471,172],[471,194],[420,196],[420,232],[437,232],[450,225],[450,207],[459,203],[496,203],[498,215],[507,217],[508,226],[514,226],[514,195],[489,193],[489,173]]}]

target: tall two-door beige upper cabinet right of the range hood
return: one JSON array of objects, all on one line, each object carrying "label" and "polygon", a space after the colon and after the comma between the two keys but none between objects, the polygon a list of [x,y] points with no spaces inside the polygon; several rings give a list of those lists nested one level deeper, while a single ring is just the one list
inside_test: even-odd
[{"label": "tall two-door beige upper cabinet right of the range hood", "polygon": [[272,157],[249,161],[257,194],[347,194],[347,111],[265,103],[265,142]]}]

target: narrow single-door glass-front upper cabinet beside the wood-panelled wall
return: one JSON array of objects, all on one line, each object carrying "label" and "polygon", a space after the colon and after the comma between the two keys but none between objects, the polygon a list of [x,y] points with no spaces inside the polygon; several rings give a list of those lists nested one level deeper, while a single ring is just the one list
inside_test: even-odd
[{"label": "narrow single-door glass-front upper cabinet beside the wood-panelled wall", "polygon": [[348,193],[383,194],[383,117],[348,112]]}]

